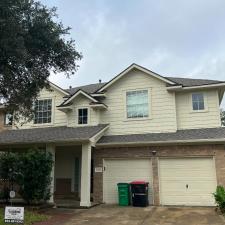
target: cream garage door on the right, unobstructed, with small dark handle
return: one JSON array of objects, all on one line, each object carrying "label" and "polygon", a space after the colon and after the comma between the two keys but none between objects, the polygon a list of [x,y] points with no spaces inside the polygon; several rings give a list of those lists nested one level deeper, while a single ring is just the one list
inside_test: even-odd
[{"label": "cream garage door on the right, unobstructed, with small dark handle", "polygon": [[160,202],[163,205],[213,206],[216,189],[213,158],[160,159]]}]

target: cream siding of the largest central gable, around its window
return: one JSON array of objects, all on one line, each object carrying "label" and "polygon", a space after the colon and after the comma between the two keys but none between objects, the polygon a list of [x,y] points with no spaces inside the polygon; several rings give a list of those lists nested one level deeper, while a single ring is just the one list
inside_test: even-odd
[{"label": "cream siding of the largest central gable, around its window", "polygon": [[[126,91],[149,91],[149,118],[126,118]],[[166,84],[141,71],[132,70],[106,92],[104,103],[108,110],[101,113],[101,122],[110,123],[108,135],[174,132],[176,131],[175,95],[166,90]]]}]

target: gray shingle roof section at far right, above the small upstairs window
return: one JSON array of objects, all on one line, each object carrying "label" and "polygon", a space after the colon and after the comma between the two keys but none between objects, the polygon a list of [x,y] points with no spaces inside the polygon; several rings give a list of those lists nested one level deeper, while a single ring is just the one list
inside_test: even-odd
[{"label": "gray shingle roof section at far right, above the small upstairs window", "polygon": [[193,79],[193,78],[180,78],[180,77],[165,77],[177,84],[180,84],[184,87],[192,87],[192,86],[201,86],[201,85],[210,85],[210,84],[218,84],[224,83],[224,81],[218,80],[206,80],[206,79]]}]

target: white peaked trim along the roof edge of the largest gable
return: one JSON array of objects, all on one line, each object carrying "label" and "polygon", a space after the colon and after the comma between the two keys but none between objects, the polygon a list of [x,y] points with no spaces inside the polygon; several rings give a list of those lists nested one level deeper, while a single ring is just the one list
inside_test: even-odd
[{"label": "white peaked trim along the roof edge of the largest gable", "polygon": [[153,77],[155,77],[155,78],[157,78],[159,80],[162,80],[162,81],[164,81],[164,82],[166,82],[168,84],[171,84],[171,85],[176,84],[176,83],[174,83],[174,82],[172,82],[172,81],[170,81],[170,80],[168,80],[168,79],[158,75],[157,73],[154,73],[154,72],[152,72],[152,71],[150,71],[150,70],[148,70],[148,69],[146,69],[144,67],[141,67],[141,66],[139,66],[137,64],[132,64],[129,67],[127,67],[124,71],[122,71],[119,75],[117,75],[117,77],[114,77],[110,82],[108,82],[106,85],[104,85],[102,88],[100,88],[98,90],[98,92],[104,91],[106,88],[108,88],[109,86],[114,84],[117,80],[122,78],[125,74],[127,74],[129,71],[131,71],[133,69],[140,70],[140,71],[142,71],[144,73],[147,73],[148,75],[151,75],[151,76],[153,76]]}]

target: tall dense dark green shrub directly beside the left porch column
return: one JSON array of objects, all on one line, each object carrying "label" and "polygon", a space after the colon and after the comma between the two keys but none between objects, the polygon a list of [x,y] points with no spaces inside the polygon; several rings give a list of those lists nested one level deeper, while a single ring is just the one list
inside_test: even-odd
[{"label": "tall dense dark green shrub directly beside the left porch column", "polygon": [[19,158],[21,164],[17,184],[20,186],[20,195],[28,204],[49,200],[52,154],[39,149],[31,149],[21,154]]}]

